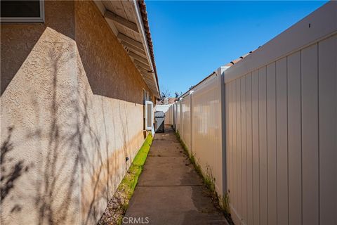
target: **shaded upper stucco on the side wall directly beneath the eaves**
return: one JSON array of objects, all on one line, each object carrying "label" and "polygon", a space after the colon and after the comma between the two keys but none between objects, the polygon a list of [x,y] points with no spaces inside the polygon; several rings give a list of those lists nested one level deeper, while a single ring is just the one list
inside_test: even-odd
[{"label": "shaded upper stucco on the side wall directly beneath the eaves", "polygon": [[150,89],[92,1],[75,2],[75,24],[79,54],[94,94],[143,104],[143,88]]}]

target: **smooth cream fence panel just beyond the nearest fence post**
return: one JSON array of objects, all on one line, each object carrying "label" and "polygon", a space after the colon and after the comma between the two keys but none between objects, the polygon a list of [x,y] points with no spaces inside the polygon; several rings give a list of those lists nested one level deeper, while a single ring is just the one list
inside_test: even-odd
[{"label": "smooth cream fence panel just beyond the nearest fence post", "polygon": [[212,77],[192,96],[192,153],[204,174],[215,179],[216,191],[223,194],[223,150],[221,125],[221,81]]}]

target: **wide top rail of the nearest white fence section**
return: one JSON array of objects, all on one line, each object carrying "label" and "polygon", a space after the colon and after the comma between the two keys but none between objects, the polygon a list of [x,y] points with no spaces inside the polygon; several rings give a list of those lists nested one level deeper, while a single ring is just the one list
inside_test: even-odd
[{"label": "wide top rail of the nearest white fence section", "polygon": [[303,49],[337,32],[337,1],[321,8],[289,27],[274,39],[225,71],[225,83],[263,67],[289,53]]}]

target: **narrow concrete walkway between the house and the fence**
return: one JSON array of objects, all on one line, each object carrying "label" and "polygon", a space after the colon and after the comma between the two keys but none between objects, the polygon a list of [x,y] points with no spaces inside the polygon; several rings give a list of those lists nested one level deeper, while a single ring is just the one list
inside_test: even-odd
[{"label": "narrow concrete walkway between the house and the fence", "polygon": [[164,134],[154,136],[123,222],[227,224],[206,193],[173,130],[166,127]]}]

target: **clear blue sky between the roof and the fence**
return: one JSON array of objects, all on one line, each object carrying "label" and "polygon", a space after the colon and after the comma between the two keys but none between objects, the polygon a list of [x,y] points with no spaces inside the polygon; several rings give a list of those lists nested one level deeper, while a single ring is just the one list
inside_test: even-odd
[{"label": "clear blue sky between the roof and the fence", "polygon": [[187,91],[325,3],[146,1],[160,88]]}]

